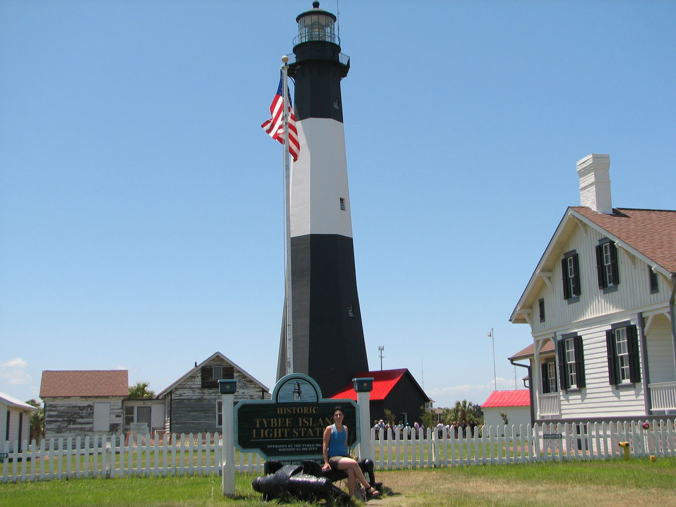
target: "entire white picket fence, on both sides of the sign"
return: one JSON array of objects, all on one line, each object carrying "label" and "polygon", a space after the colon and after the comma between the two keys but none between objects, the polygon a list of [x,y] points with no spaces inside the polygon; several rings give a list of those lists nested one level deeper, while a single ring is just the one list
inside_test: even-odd
[{"label": "entire white picket fence, on both sides of the sign", "polygon": [[[432,468],[564,460],[623,458],[619,443],[629,442],[630,456],[676,456],[673,420],[618,423],[551,423],[484,427],[463,435],[429,429],[370,431],[376,468]],[[45,481],[78,477],[218,475],[222,439],[218,433],[171,435],[170,438],[116,435],[5,441],[0,445],[0,482]],[[237,453],[238,473],[262,473],[257,454]]]}]

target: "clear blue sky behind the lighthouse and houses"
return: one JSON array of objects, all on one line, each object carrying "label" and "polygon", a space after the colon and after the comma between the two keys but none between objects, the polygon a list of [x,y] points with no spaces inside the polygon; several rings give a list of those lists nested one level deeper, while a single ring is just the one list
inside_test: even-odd
[{"label": "clear blue sky behind the lighthouse and houses", "polygon": [[[0,2],[0,391],[111,368],[161,391],[217,350],[273,387],[283,172],[260,124],[311,5]],[[481,403],[491,328],[514,389],[531,337],[508,318],[579,204],[575,162],[610,153],[613,206],[676,208],[676,3],[339,15],[370,367],[384,345],[437,406]]]}]

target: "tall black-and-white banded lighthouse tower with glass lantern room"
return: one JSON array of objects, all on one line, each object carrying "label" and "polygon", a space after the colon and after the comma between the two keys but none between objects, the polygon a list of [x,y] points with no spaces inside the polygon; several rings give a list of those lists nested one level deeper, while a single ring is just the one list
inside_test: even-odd
[{"label": "tall black-and-white banded lighthouse tower with glass lantern room", "polygon": [[[368,370],[357,294],[352,218],[347,186],[336,16],[312,3],[296,18],[294,114],[299,155],[289,195],[293,372],[312,377],[330,396]],[[286,304],[286,303],[285,303]],[[286,312],[285,312],[286,316]],[[277,378],[287,373],[283,318]]]}]

